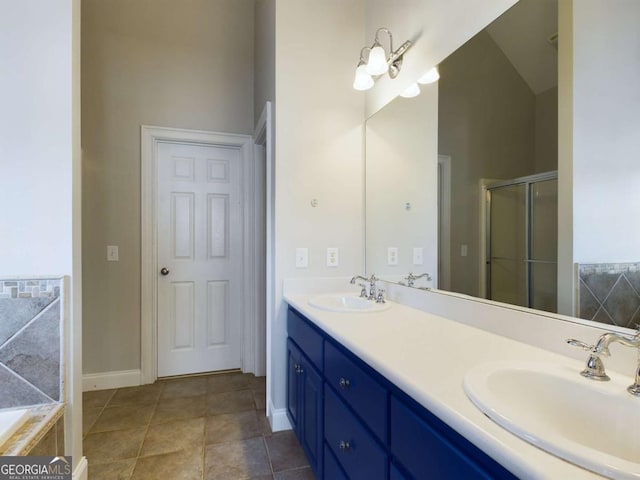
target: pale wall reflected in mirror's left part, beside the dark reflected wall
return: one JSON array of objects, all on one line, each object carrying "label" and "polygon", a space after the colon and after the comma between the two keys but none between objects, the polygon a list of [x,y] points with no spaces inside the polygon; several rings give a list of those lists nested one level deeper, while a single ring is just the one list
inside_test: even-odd
[{"label": "pale wall reflected in mirror's left part, beside the dark reflected wall", "polygon": [[[392,282],[437,274],[437,190],[428,181],[437,175],[437,84],[421,90],[367,121],[367,273]],[[420,285],[432,282],[422,277]]]}]

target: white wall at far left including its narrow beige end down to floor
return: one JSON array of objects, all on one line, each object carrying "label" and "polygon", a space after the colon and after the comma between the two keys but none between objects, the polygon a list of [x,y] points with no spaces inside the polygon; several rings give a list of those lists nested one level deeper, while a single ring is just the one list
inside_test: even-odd
[{"label": "white wall at far left including its narrow beige end down to floor", "polygon": [[0,1],[0,274],[70,275],[65,454],[82,458],[80,0]]}]

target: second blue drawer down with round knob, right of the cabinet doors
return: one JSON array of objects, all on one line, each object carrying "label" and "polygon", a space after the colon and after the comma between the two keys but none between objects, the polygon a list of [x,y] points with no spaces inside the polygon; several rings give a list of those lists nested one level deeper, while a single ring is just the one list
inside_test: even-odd
[{"label": "second blue drawer down with round knob, right of the cabinet doors", "polygon": [[342,400],[325,388],[325,441],[350,479],[387,478],[387,455]]}]

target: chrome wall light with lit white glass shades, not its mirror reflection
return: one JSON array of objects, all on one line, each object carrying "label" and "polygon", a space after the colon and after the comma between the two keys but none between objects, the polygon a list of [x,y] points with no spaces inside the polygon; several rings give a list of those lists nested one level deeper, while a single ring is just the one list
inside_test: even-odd
[{"label": "chrome wall light with lit white glass shades, not its mirror reflection", "polygon": [[[380,43],[380,33],[384,32],[389,37],[389,55]],[[396,78],[402,68],[402,57],[407,50],[413,45],[407,40],[397,50],[393,49],[393,35],[388,28],[379,28],[376,30],[376,37],[373,45],[364,47],[360,50],[360,61],[356,67],[356,75],[353,81],[353,88],[356,90],[368,90],[373,86],[373,76],[389,74],[389,77]],[[364,61],[363,53],[369,50],[367,61]]]}]

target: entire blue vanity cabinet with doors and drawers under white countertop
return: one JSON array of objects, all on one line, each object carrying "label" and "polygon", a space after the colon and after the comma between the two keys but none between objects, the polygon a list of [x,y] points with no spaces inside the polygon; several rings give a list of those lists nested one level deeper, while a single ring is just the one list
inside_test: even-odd
[{"label": "entire blue vanity cabinet with doors and drawers under white countertop", "polygon": [[287,413],[318,480],[516,480],[289,308]]}]

